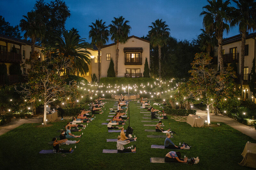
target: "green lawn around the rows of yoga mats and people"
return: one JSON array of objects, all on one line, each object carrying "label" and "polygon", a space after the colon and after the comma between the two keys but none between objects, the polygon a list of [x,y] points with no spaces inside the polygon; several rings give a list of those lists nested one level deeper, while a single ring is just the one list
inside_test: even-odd
[{"label": "green lawn around the rows of yoga mats and people", "polygon": [[[103,149],[116,149],[115,142],[106,142],[106,139],[116,138],[119,133],[108,133],[107,122],[108,110],[114,101],[106,104],[106,112],[96,115],[96,119],[89,123],[83,130],[84,135],[78,144],[62,145],[60,148],[76,149],[72,154],[39,154],[42,149],[52,149],[47,142],[52,137],[59,136],[66,121],[54,122],[51,127],[36,128],[38,124],[23,124],[4,135],[0,136],[0,165],[2,169],[248,169],[238,165],[243,159],[241,153],[247,141],[255,143],[252,138],[241,132],[221,123],[220,127],[209,129],[192,128],[186,122],[176,122],[173,119],[163,120],[166,129],[171,127],[177,135],[172,141],[178,145],[179,142],[186,142],[192,146],[190,150],[181,150],[181,155],[199,157],[197,165],[178,163],[150,163],[150,157],[164,157],[169,150],[151,149],[151,144],[164,144],[164,138],[148,138],[147,135],[163,135],[160,132],[144,132],[144,129],[155,127],[144,127],[140,122],[144,113],[140,113],[137,104],[130,102],[130,124],[134,134],[138,137],[136,153],[102,153]],[[105,110],[103,110],[105,111]],[[144,116],[145,117],[145,116]],[[149,116],[148,116],[149,117]],[[144,119],[146,120],[146,119]],[[150,120],[150,119],[148,119]],[[156,123],[152,123],[156,124]],[[128,123],[124,125],[126,129]],[[73,132],[75,135],[81,132]],[[78,140],[76,138],[75,140]]]}]

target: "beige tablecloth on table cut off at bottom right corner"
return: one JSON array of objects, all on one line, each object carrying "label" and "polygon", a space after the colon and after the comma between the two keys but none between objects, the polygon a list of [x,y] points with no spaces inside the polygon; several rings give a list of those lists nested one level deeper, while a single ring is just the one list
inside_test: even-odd
[{"label": "beige tablecloth on table cut off at bottom right corner", "polygon": [[256,144],[246,143],[241,155],[244,159],[240,162],[240,165],[256,168]]}]

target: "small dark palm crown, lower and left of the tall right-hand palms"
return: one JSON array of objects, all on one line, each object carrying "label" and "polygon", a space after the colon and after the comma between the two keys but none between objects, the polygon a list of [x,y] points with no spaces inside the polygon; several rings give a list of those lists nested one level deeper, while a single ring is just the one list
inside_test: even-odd
[{"label": "small dark palm crown, lower and left of the tall right-hand palms", "polygon": [[204,29],[201,29],[201,31],[202,33],[198,36],[200,40],[200,48],[210,55],[210,52],[217,44],[216,37],[214,36],[214,33],[206,33]]}]

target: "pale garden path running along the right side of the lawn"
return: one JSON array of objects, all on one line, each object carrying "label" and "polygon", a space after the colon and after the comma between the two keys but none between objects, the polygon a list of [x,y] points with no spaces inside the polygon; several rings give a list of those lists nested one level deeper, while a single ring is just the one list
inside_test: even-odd
[{"label": "pale garden path running along the right side of the lawn", "polygon": [[[206,111],[200,110],[196,108],[196,115],[202,117],[203,119],[207,120],[207,113]],[[231,119],[228,116],[215,116],[211,115],[210,116],[211,122],[223,122],[227,124],[228,126],[242,132],[243,134],[252,137],[253,139],[256,139],[256,130],[254,127],[246,126],[243,123],[237,122],[234,119]]]}]

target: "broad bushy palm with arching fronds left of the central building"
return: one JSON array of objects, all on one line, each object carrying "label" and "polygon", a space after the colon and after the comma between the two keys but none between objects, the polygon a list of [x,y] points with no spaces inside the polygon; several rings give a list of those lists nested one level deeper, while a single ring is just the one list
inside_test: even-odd
[{"label": "broad bushy palm with arching fronds left of the central building", "polygon": [[87,63],[90,63],[91,53],[87,51],[87,48],[92,48],[92,46],[85,42],[84,38],[80,38],[76,29],[72,28],[65,31],[63,36],[59,35],[56,38],[55,42],[56,53],[63,53],[66,57],[74,57],[74,68],[76,68],[78,74],[84,75],[89,71]]}]

